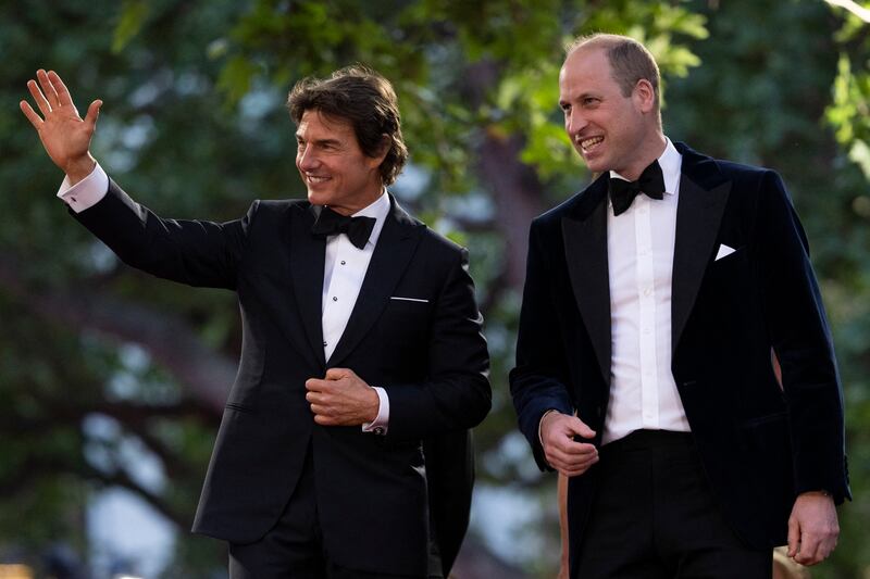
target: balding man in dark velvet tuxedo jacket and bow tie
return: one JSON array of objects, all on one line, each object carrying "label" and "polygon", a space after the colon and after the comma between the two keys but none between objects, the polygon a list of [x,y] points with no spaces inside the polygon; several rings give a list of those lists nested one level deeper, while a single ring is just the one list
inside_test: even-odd
[{"label": "balding man in dark velvet tuxedo jacket and bow tie", "polygon": [[782,180],[672,143],[634,40],[579,39],[559,87],[601,175],[532,224],[510,382],[538,465],[570,477],[571,576],[769,577],[785,543],[824,559],[843,398]]}]

